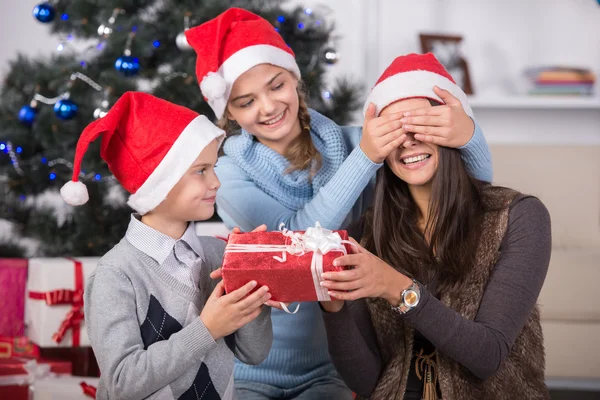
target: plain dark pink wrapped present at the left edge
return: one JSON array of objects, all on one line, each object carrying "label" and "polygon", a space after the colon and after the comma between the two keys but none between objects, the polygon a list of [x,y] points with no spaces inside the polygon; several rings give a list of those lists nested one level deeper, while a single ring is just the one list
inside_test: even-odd
[{"label": "plain dark pink wrapped present at the left edge", "polygon": [[26,259],[0,258],[0,336],[23,335],[26,283]]}]

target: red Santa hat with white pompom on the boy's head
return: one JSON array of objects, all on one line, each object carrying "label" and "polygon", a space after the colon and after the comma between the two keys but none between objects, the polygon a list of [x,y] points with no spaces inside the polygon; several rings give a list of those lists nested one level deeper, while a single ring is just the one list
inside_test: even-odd
[{"label": "red Santa hat with white pompom on the boy's head", "polygon": [[127,92],[79,137],[72,181],[60,194],[74,206],[88,201],[87,189],[79,181],[81,161],[90,143],[102,136],[100,156],[131,193],[127,204],[146,214],[167,197],[202,150],[224,134],[190,109],[147,93]]}]

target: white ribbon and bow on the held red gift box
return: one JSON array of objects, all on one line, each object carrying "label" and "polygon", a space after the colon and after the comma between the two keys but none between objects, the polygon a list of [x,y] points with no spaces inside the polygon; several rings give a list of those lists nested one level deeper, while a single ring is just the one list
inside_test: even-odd
[{"label": "white ribbon and bow on the held red gift box", "polygon": [[[319,301],[329,301],[331,297],[327,293],[327,288],[321,286],[323,280],[323,254],[330,251],[339,251],[342,255],[346,255],[345,243],[354,246],[354,243],[348,240],[342,240],[337,232],[321,227],[318,222],[314,227],[310,227],[304,234],[290,231],[285,228],[282,223],[279,226],[281,234],[290,239],[289,244],[238,244],[231,243],[225,247],[226,253],[279,253],[281,256],[273,256],[273,258],[281,263],[286,262],[287,254],[294,256],[302,256],[307,252],[312,252],[312,260],[310,271],[313,277],[315,293]],[[295,314],[298,312],[300,305],[296,307],[294,312],[290,312],[285,304],[280,303],[285,312]]]}]

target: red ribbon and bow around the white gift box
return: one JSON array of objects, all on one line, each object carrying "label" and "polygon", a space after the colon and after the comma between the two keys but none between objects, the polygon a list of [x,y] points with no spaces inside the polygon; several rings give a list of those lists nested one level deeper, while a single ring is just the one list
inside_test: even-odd
[{"label": "red ribbon and bow around the white gift box", "polygon": [[58,330],[52,335],[56,343],[62,342],[69,329],[73,335],[73,347],[78,347],[81,336],[81,321],[83,321],[83,266],[81,261],[69,258],[73,261],[75,289],[57,289],[49,292],[29,292],[29,298],[33,300],[44,300],[49,306],[71,304],[71,310],[67,313]]}]

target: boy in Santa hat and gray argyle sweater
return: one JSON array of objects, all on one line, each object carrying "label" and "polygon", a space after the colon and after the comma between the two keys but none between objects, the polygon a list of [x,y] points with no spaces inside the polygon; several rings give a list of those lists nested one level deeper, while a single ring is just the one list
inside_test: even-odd
[{"label": "boy in Santa hat and gray argyle sweater", "polygon": [[[232,399],[234,354],[261,363],[272,342],[268,288],[224,294],[211,276],[225,243],[195,234],[214,213],[214,173],[224,132],[206,117],[146,93],[128,92],[82,133],[72,205],[88,200],[78,182],[88,145],[131,193],[127,233],[102,257],[85,290],[86,325],[102,376],[102,399]],[[212,293],[211,293],[212,292]]]}]

